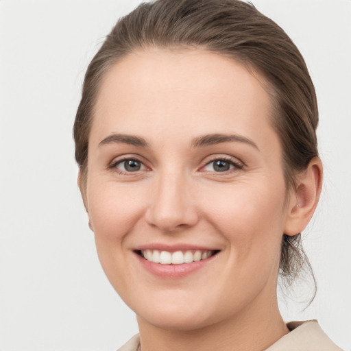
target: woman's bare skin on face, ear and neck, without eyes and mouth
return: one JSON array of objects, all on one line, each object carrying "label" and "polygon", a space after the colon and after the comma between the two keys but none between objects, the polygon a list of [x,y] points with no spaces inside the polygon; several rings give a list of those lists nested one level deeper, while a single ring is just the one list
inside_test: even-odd
[{"label": "woman's bare skin on face, ear and neck, without eyes and mouth", "polygon": [[[258,77],[200,49],[147,49],[117,62],[101,85],[87,183],[78,182],[101,265],[137,315],[143,351],[263,350],[289,331],[276,298],[280,243],[311,219],[322,166],[311,161],[298,190],[287,190]],[[149,146],[101,145],[112,134]],[[206,134],[250,142],[193,145]],[[141,169],[126,171],[123,158]],[[230,169],[216,171],[214,159]],[[182,278],[160,278],[134,252],[150,244],[219,253]]]}]

